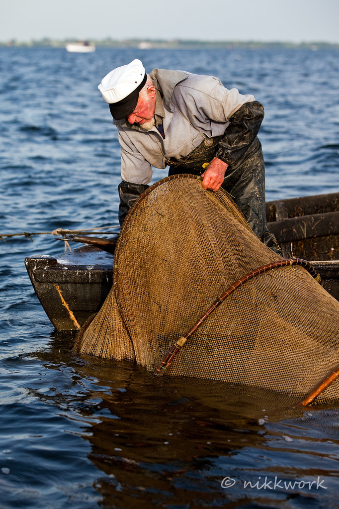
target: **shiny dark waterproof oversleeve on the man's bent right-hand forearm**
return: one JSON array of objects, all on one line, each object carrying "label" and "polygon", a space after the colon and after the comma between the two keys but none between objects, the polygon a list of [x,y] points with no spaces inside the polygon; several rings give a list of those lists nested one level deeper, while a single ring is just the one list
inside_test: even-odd
[{"label": "shiny dark waterproof oversleeve on the man's bent right-hand forearm", "polygon": [[244,155],[258,134],[264,108],[258,101],[246,102],[230,117],[225,136],[215,157],[233,166]]}]

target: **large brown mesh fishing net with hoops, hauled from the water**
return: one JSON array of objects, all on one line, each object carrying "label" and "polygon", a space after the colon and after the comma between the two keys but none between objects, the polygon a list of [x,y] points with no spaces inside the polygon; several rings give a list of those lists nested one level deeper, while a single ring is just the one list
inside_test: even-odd
[{"label": "large brown mesh fishing net with hoops, hauled from the water", "polygon": [[174,175],[128,214],[113,289],[75,351],[297,397],[324,380],[317,401],[339,399],[339,302],[315,276],[260,242],[225,191]]}]

